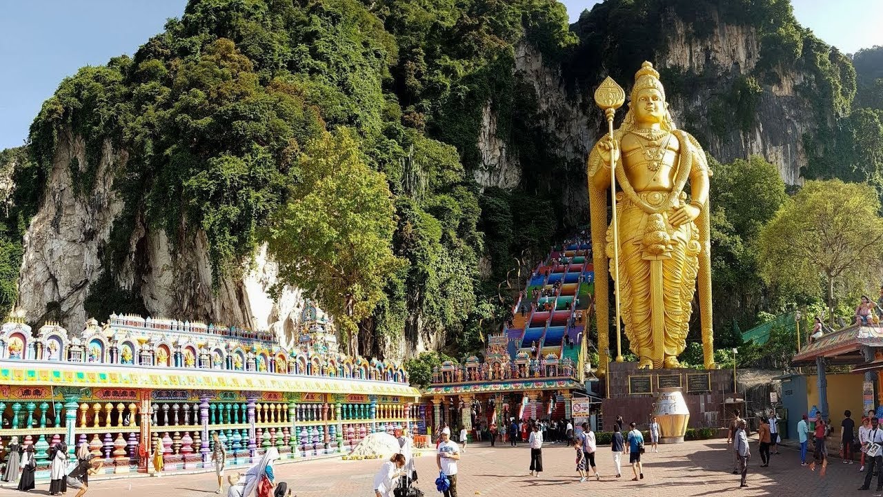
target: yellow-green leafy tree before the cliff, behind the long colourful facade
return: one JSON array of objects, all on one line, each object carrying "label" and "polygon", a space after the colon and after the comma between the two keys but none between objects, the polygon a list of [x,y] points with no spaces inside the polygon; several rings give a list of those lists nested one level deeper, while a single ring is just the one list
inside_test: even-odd
[{"label": "yellow-green leafy tree before the cliff, behind the long colourful facade", "polygon": [[315,294],[355,355],[358,322],[404,263],[390,248],[396,222],[385,177],[366,165],[351,133],[339,128],[308,144],[291,200],[266,235],[281,282]]}]

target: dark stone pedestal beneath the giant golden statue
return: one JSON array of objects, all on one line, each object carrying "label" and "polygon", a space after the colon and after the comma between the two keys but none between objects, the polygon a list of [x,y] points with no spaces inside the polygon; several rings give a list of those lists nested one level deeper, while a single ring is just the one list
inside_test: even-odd
[{"label": "dark stone pedestal beneath the giant golden statue", "polygon": [[[670,389],[680,392],[686,406],[685,413],[675,413],[686,415],[685,419],[681,418],[683,430],[724,425],[723,392],[733,389],[732,370],[639,370],[638,363],[611,362],[608,374],[609,391],[607,398],[601,401],[603,426],[600,431],[612,431],[617,416],[622,416],[626,424],[634,421],[639,429],[646,430],[656,408],[654,404],[660,404],[660,394]],[[662,427],[660,413],[656,416]],[[668,438],[672,429],[661,432]],[[683,434],[660,443],[677,441],[683,441]]]}]

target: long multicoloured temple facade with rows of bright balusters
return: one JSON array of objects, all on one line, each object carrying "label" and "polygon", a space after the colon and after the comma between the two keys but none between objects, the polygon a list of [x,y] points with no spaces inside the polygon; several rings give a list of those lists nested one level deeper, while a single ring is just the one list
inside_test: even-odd
[{"label": "long multicoloured temple facade with rows of bright balusters", "polygon": [[103,472],[213,467],[213,435],[228,464],[268,447],[283,458],[345,453],[371,432],[411,428],[419,390],[401,365],[345,356],[308,305],[297,346],[271,333],[175,319],[111,315],[79,333],[22,320],[0,328],[0,454],[11,437],[34,444],[37,478],[46,449],[81,442]]}]

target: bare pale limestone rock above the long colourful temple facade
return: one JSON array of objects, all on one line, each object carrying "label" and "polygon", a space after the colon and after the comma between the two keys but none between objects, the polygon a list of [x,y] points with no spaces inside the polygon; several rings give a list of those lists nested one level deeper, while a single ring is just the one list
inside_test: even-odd
[{"label": "bare pale limestone rock above the long colourful temple facade", "polygon": [[[102,253],[125,207],[113,189],[113,179],[126,158],[125,150],[113,149],[106,142],[93,191],[79,195],[70,164],[80,164],[85,170],[85,144],[71,134],[60,140],[43,203],[24,240],[18,307],[28,321],[57,316],[70,330],[86,322],[84,302],[90,286],[108,270]],[[285,345],[296,339],[306,295],[286,286],[277,300],[271,298],[278,270],[265,247],[241,277],[224,278],[213,290],[205,233],[188,230],[176,246],[165,231],[139,219],[129,238],[128,256],[122,267],[115,268],[115,283],[140,295],[154,317],[270,329]]]}]

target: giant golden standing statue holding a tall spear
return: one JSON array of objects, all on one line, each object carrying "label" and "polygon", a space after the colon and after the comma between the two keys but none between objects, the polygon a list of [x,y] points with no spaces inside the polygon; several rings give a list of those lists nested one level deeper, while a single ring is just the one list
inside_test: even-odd
[{"label": "giant golden standing statue holding a tall spear", "polygon": [[[618,323],[622,311],[639,367],[680,367],[677,356],[686,347],[698,279],[703,356],[706,369],[712,369],[712,173],[705,153],[691,134],[675,127],[659,73],[649,62],[635,74],[629,111],[619,129],[613,129],[613,116],[623,103],[622,88],[608,78],[595,99],[607,111],[610,129],[592,148],[588,162],[600,372],[606,374],[608,364],[608,279],[602,272],[608,261],[618,287],[616,360],[623,360]],[[689,198],[684,192],[688,180]],[[608,226],[607,192],[617,183],[614,220]]]}]

